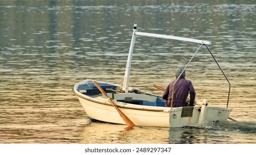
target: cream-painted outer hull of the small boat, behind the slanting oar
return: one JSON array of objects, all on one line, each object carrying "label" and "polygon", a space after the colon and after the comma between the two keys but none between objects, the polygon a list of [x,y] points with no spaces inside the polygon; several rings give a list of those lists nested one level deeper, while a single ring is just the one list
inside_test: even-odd
[{"label": "cream-painted outer hull of the small boat, behind the slanting oar", "polygon": [[[125,124],[116,109],[111,105],[98,104],[79,97],[87,115],[95,120]],[[136,126],[182,127],[198,122],[200,107],[193,107],[193,117],[181,117],[182,107],[162,111],[139,110],[119,107]]]}]

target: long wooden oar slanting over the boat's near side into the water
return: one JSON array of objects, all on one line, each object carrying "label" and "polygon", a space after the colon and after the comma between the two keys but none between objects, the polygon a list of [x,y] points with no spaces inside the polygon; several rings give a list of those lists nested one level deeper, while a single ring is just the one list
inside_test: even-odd
[{"label": "long wooden oar slanting over the boat's near side into the water", "polygon": [[110,99],[110,97],[106,94],[106,92],[100,87],[100,85],[96,82],[93,81],[96,87],[100,90],[100,92],[106,97],[107,101],[110,102],[112,106],[115,107],[119,115],[122,117],[122,120],[125,121],[126,125],[129,127],[135,127],[135,124],[114,104],[114,102]]}]

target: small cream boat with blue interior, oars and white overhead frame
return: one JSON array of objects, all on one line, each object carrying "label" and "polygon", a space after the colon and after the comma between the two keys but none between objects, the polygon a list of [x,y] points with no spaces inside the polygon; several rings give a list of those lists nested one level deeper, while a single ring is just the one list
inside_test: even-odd
[{"label": "small cream boat with blue interior, oars and white overhead frame", "polygon": [[[219,69],[226,77],[229,84],[227,107],[211,106],[208,100],[196,101],[195,106],[185,107],[165,107],[165,100],[161,96],[142,91],[136,87],[129,86],[132,52],[137,36],[157,37],[165,39],[175,39],[199,44],[196,53],[188,61],[183,71],[186,70],[192,59],[196,56],[202,46],[206,46],[209,53],[216,61]],[[127,124],[134,126],[156,126],[156,127],[183,127],[197,125],[203,122],[226,123],[231,109],[228,108],[231,84],[214,58],[207,45],[211,42],[171,35],[153,34],[138,32],[137,24],[134,24],[129,55],[127,58],[124,82],[121,85],[110,84],[104,81],[83,80],[73,87],[74,94],[78,97],[86,114],[94,120]],[[183,73],[182,71],[182,73]],[[182,75],[180,74],[180,76]],[[177,77],[177,79],[180,78]],[[175,81],[176,82],[176,81]],[[162,87],[156,86],[160,90]],[[174,88],[174,86],[173,86]]]}]

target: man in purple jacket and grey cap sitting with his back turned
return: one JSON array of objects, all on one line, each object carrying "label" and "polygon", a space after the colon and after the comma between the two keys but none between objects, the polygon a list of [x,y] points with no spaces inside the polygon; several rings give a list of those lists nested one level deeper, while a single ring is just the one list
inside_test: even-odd
[{"label": "man in purple jacket and grey cap sitting with his back turned", "polygon": [[[179,68],[175,72],[176,79],[182,73],[183,68]],[[193,84],[190,80],[185,79],[186,71],[184,70],[180,78],[177,80],[174,88],[173,94],[173,105],[172,107],[182,107],[188,106],[186,102],[188,93],[190,93],[190,103],[189,106],[194,105],[194,100],[196,99],[196,91],[194,90]],[[166,107],[171,107],[172,102],[172,89],[175,80],[170,82],[170,84],[166,87],[165,92],[163,92],[162,99],[165,101]]]}]

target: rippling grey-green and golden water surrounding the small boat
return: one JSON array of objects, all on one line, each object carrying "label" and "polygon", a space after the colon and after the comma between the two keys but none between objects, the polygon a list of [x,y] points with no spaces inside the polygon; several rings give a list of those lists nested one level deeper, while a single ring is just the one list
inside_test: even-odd
[{"label": "rippling grey-green and golden water surrounding the small boat", "polygon": [[[0,1],[0,143],[255,143],[255,1]],[[91,121],[72,92],[121,84],[139,32],[209,40],[231,82],[228,125],[135,127]],[[161,95],[198,44],[137,37],[130,85]],[[206,48],[188,66],[196,100],[227,106],[228,82]]]}]

